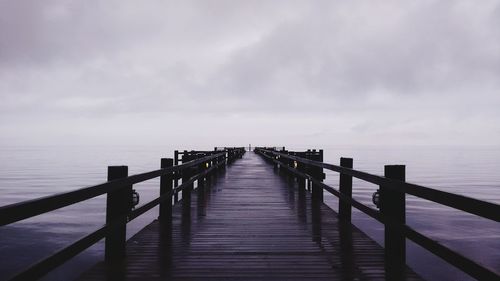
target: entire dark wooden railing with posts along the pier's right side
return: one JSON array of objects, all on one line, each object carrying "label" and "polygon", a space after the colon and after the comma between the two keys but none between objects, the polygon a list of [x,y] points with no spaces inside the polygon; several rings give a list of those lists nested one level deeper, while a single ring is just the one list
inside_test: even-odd
[{"label": "entire dark wooden railing with posts along the pier's right side", "polygon": [[[406,225],[405,195],[413,195],[496,222],[500,222],[500,205],[408,183],[405,181],[404,165],[387,165],[384,176],[378,176],[354,170],[351,158],[341,158],[340,165],[323,163],[322,150],[293,152],[256,147],[254,151],[293,175],[299,188],[307,186],[312,189],[313,200],[322,201],[323,190],[338,197],[340,220],[350,222],[351,207],[355,207],[383,223],[386,272],[391,280],[402,280],[400,276],[406,267],[406,238],[476,279],[500,280],[498,273]],[[323,169],[340,174],[338,190],[322,182],[325,177]],[[373,201],[380,210],[352,197],[353,177],[380,186],[373,196]]]}]

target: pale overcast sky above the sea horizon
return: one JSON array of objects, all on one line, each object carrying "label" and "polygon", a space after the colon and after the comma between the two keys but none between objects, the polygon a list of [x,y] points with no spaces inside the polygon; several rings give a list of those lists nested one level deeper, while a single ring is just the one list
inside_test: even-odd
[{"label": "pale overcast sky above the sea horizon", "polygon": [[500,0],[0,0],[0,99],[2,145],[500,144]]}]

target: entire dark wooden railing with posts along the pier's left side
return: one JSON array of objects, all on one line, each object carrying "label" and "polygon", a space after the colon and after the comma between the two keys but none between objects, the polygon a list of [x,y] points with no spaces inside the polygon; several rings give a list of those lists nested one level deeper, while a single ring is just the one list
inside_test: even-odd
[{"label": "entire dark wooden railing with posts along the pier's left side", "polygon": [[[162,158],[159,170],[128,176],[127,166],[108,167],[108,181],[102,184],[55,194],[0,207],[0,226],[15,223],[59,208],[79,203],[106,194],[106,224],[82,237],[71,245],[46,257],[9,280],[38,279],[83,250],[105,238],[105,260],[113,263],[125,255],[126,224],[153,207],[160,205],[159,221],[164,226],[172,223],[172,196],[182,191],[183,208],[190,208],[191,190],[194,182],[204,181],[219,168],[240,158],[245,153],[242,147],[218,149],[216,151],[176,151],[174,159]],[[178,155],[182,164],[178,165]],[[134,208],[138,193],[134,184],[160,177],[159,197]],[[182,179],[182,184],[178,180]],[[176,185],[173,185],[175,180]],[[135,202],[134,202],[135,201]],[[177,202],[177,200],[175,200]]]}]

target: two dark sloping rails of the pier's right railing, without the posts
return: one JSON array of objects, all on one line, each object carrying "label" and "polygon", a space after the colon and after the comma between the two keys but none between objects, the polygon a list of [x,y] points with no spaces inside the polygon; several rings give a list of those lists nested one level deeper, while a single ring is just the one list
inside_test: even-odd
[{"label": "two dark sloping rails of the pier's right railing, without the posts", "polygon": [[[404,181],[393,180],[387,177],[373,175],[366,172],[345,168],[342,166],[327,164],[320,161],[314,161],[303,157],[290,155],[290,154],[302,154],[302,153],[288,152],[290,154],[287,154],[285,152],[278,152],[274,149],[258,148],[258,147],[256,147],[254,151],[257,152],[259,155],[263,156],[264,158],[266,158],[267,160],[272,161],[275,164],[279,164],[280,168],[284,168],[285,170],[297,175],[302,179],[307,179],[310,182],[314,183],[316,186],[324,190],[327,190],[331,194],[337,196],[340,199],[339,203],[349,204],[355,207],[356,209],[362,211],[363,213],[367,214],[368,216],[383,223],[384,225],[390,226],[393,231],[396,231],[403,237],[412,240],[413,242],[417,243],[424,249],[427,249],[431,253],[441,257],[449,264],[455,266],[456,268],[462,270],[463,272],[469,274],[470,276],[477,278],[479,280],[497,280],[499,278],[498,274],[490,270],[489,268],[484,267],[483,265],[457,253],[456,251],[440,244],[437,241],[434,241],[433,239],[409,227],[408,225],[394,221],[393,218],[386,217],[378,210],[370,208],[362,204],[361,202],[355,200],[351,196],[347,196],[342,192],[334,189],[333,187],[324,184],[322,182],[322,179],[317,179],[314,177],[315,174],[311,175],[307,171],[300,171],[300,169],[298,169],[297,167],[292,167],[289,164],[290,160],[293,160],[296,161],[297,163],[325,168],[328,170],[338,172],[340,174],[352,176],[354,178],[358,178],[370,183],[383,186],[384,188],[387,187],[395,192],[400,192],[400,193],[402,192],[403,194],[405,193],[411,194],[423,199],[427,199],[429,201],[440,203],[442,205],[446,205],[497,222],[500,220],[500,205],[481,201],[478,199],[469,198],[462,195],[457,195],[449,192],[432,189],[425,186],[407,183]],[[309,153],[309,151],[307,153]],[[287,159],[287,161],[280,161],[281,159]],[[350,221],[350,218],[348,221]],[[385,248],[386,257],[387,257],[387,246],[388,246],[387,242],[388,241],[386,241],[386,248]],[[402,257],[402,259],[404,260],[405,258]]]}]

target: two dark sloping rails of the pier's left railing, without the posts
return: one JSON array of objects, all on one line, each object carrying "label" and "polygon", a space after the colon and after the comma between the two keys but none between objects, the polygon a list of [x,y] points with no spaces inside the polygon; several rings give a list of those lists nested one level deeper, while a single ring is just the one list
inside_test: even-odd
[{"label": "two dark sloping rails of the pier's left railing, without the posts", "polygon": [[[233,153],[226,155],[227,151],[217,153],[206,153],[212,154],[206,157],[201,157],[198,159],[190,160],[181,165],[172,166],[169,168],[163,168],[155,171],[150,171],[146,173],[136,174],[128,176],[119,180],[109,181],[103,184],[94,185],[91,187],[86,187],[78,189],[75,191],[60,193],[52,196],[47,196],[43,198],[28,200],[16,204],[11,204],[7,206],[0,207],[0,225],[6,225],[13,222],[17,222],[26,218],[37,216],[52,210],[56,210],[65,206],[69,206],[87,199],[120,190],[126,186],[132,186],[133,184],[140,183],[146,180],[150,180],[160,176],[171,176],[176,172],[182,172],[187,169],[193,169],[194,167],[199,168],[200,164],[209,163],[210,161],[215,161],[213,165],[207,165],[206,169],[202,169],[201,172],[193,174],[189,179],[183,182],[181,185],[177,186],[175,189],[168,193],[161,194],[159,197],[151,200],[150,202],[143,204],[142,206],[130,210],[122,215],[117,216],[111,221],[107,221],[106,224],[96,231],[85,235],[81,239],[73,242],[67,247],[64,247],[57,251],[56,253],[35,262],[25,270],[15,274],[9,280],[33,280],[40,278],[53,270],[54,268],[60,266],[70,258],[81,253],[85,249],[97,243],[104,237],[108,237],[110,234],[115,233],[117,228],[122,227],[129,221],[139,217],[145,212],[149,211],[153,207],[161,204],[162,202],[168,202],[169,198],[173,196],[176,191],[183,190],[184,188],[192,185],[196,180],[208,176],[210,173],[214,172],[217,168],[226,165],[225,161],[234,160],[232,157],[240,157],[245,153],[244,148],[233,148]],[[204,153],[200,153],[204,154]],[[224,161],[219,162],[220,159]],[[173,177],[170,178],[173,180]],[[171,199],[170,199],[171,200]],[[109,207],[109,206],[108,206]],[[171,218],[170,218],[171,219]],[[108,241],[106,241],[106,247]]]}]

